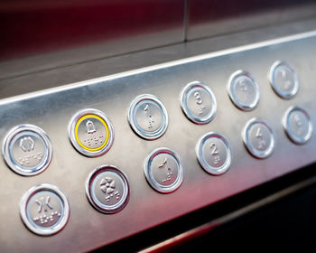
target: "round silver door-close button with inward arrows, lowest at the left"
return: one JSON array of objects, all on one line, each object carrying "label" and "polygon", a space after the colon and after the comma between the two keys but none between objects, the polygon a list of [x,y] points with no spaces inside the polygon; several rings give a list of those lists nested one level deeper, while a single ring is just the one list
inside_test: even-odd
[{"label": "round silver door-close button with inward arrows, lowest at the left", "polygon": [[49,236],[65,227],[70,217],[70,205],[58,187],[42,183],[23,195],[20,215],[29,230]]}]

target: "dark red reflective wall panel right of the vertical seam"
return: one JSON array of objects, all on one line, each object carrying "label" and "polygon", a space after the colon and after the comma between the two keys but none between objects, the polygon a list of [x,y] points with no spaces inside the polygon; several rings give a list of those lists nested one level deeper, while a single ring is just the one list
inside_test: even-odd
[{"label": "dark red reflective wall panel right of the vertical seam", "polygon": [[186,40],[236,33],[315,16],[311,0],[190,0]]}]

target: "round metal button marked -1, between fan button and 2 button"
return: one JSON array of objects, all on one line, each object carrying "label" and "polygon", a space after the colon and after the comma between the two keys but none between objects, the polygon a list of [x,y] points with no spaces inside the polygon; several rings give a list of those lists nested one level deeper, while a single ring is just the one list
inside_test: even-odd
[{"label": "round metal button marked -1, between fan button and 2 button", "polygon": [[153,150],[144,161],[144,175],[157,192],[176,191],[183,181],[180,155],[166,147]]}]

